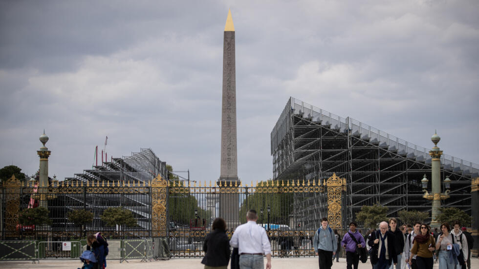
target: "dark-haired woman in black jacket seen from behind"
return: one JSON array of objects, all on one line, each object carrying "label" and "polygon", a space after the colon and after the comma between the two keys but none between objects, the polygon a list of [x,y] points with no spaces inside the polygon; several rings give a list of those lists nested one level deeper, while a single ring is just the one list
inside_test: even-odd
[{"label": "dark-haired woman in black jacket seen from behind", "polygon": [[201,263],[205,265],[205,269],[227,269],[230,261],[230,241],[226,235],[226,223],[222,218],[216,218],[211,229],[203,244],[205,256]]}]

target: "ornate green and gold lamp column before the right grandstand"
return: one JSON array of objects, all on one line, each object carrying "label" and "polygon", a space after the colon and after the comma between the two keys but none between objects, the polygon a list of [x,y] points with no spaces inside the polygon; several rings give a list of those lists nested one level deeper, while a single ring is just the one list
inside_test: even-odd
[{"label": "ornate green and gold lamp column before the right grandstand", "polygon": [[439,215],[439,207],[441,207],[441,200],[449,198],[449,192],[451,191],[451,180],[449,177],[444,179],[444,185],[446,187],[446,191],[441,193],[441,155],[442,150],[439,150],[437,147],[437,143],[441,138],[435,133],[431,137],[431,141],[434,143],[433,149],[429,151],[429,155],[431,155],[432,162],[431,162],[431,174],[432,174],[432,194],[429,194],[427,191],[428,182],[429,180],[426,178],[424,174],[424,178],[421,180],[422,183],[422,191],[424,195],[422,197],[433,200],[432,205],[432,213],[431,213],[431,227],[439,227],[440,223],[437,221],[437,215]]}]

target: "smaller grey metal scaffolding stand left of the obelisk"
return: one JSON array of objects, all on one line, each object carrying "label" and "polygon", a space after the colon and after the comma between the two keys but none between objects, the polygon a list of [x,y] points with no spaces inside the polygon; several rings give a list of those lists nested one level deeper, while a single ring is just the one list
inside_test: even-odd
[{"label": "smaller grey metal scaffolding stand left of the obelisk", "polygon": [[[72,178],[65,178],[65,184],[83,183],[120,183],[121,185],[142,186],[148,184],[157,175],[167,179],[166,162],[162,162],[150,148],[141,148],[140,152],[131,153],[131,156],[111,158],[101,166],[93,166],[84,170],[82,174],[75,174]],[[146,230],[151,229],[151,198],[148,193],[112,193],[86,195],[71,194],[63,196],[64,203],[55,203],[59,208],[49,206],[50,210],[58,212],[64,219],[67,211],[74,209],[88,209],[94,214],[92,228],[103,227],[100,216],[108,207],[125,207],[133,212],[138,225]],[[65,212],[63,212],[65,211]],[[60,220],[59,220],[60,221]],[[68,224],[65,224],[67,227]]]}]

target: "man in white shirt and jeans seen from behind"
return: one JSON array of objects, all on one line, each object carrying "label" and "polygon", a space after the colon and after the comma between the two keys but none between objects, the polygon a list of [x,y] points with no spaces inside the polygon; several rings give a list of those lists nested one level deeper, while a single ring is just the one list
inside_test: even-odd
[{"label": "man in white shirt and jeans seen from behind", "polygon": [[266,269],[271,269],[271,244],[266,231],[256,224],[258,214],[251,209],[246,213],[245,224],[238,226],[230,240],[230,246],[238,248],[240,269],[264,269],[263,254],[266,255]]}]

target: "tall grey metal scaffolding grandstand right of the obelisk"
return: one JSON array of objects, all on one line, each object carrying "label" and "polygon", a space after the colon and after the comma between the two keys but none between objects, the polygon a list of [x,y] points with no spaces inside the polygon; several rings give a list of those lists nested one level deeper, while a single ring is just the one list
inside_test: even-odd
[{"label": "tall grey metal scaffolding grandstand right of the obelisk", "polygon": [[[350,117],[342,118],[290,98],[271,132],[274,180],[322,183],[333,173],[347,179],[343,225],[362,206],[380,203],[397,211],[431,210],[422,195],[421,179],[431,178],[429,149],[413,145]],[[471,178],[479,166],[449,155],[441,157],[441,176],[452,180],[447,207],[471,214]],[[327,197],[298,199],[296,214],[319,221],[327,215]],[[314,208],[314,210],[312,210]],[[301,217],[300,217],[301,218]],[[319,225],[319,223],[316,223]]]}]

